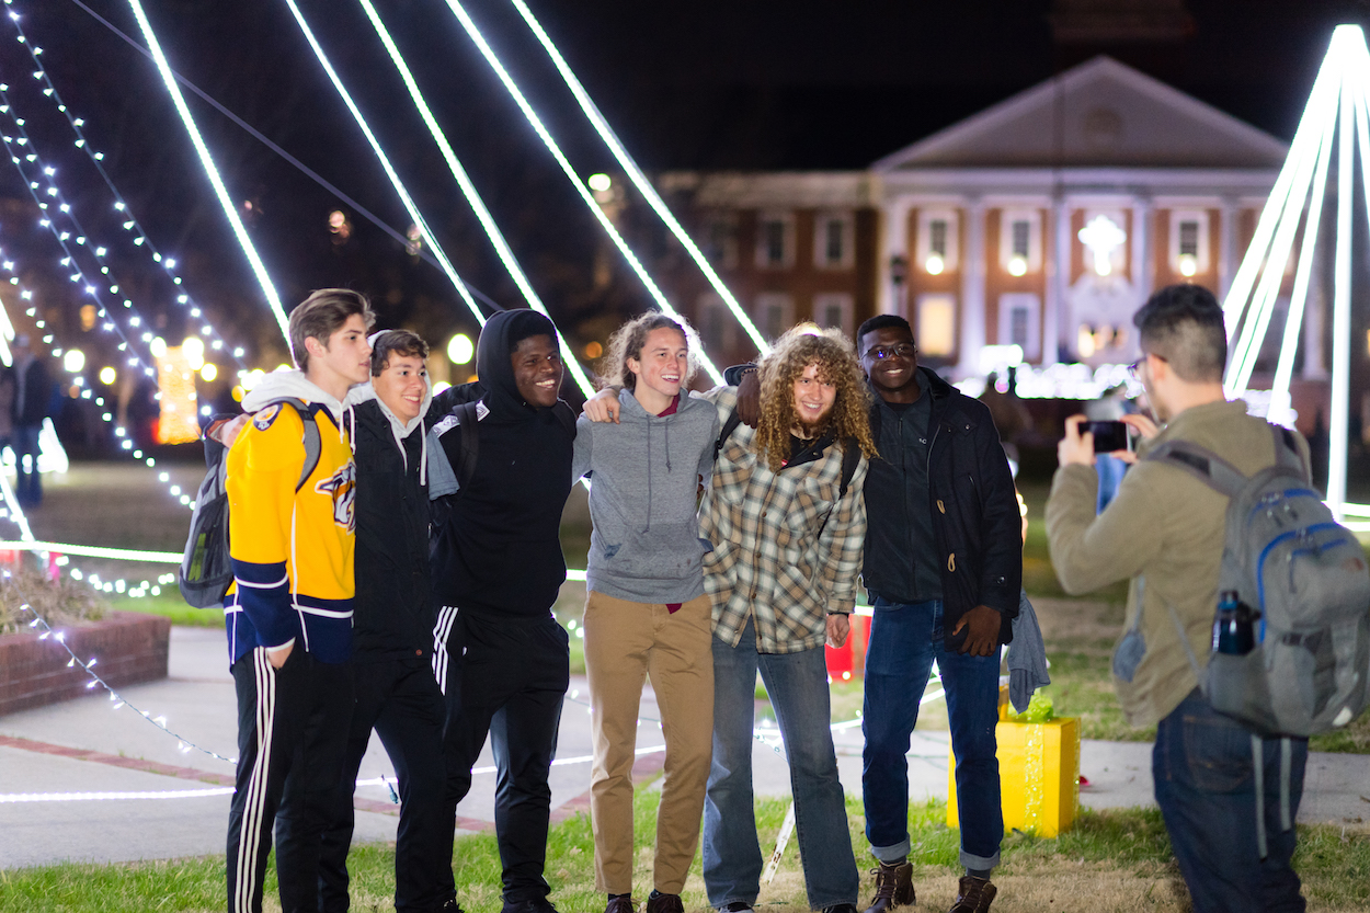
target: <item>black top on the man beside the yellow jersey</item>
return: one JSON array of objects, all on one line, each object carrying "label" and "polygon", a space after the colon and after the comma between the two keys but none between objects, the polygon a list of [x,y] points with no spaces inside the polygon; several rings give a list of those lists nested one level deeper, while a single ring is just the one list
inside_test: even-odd
[{"label": "black top on the man beside the yellow jersey", "polygon": [[427,657],[433,650],[429,503],[422,478],[423,426],[404,452],[375,399],[356,415],[356,600],[353,662]]}]

